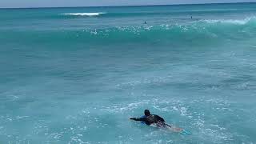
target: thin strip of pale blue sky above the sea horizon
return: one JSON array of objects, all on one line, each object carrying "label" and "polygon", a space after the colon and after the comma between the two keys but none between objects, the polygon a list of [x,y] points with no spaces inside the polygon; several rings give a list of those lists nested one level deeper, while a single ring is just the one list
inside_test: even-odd
[{"label": "thin strip of pale blue sky above the sea horizon", "polygon": [[0,0],[0,8],[173,5],[223,2],[256,2],[256,0]]}]

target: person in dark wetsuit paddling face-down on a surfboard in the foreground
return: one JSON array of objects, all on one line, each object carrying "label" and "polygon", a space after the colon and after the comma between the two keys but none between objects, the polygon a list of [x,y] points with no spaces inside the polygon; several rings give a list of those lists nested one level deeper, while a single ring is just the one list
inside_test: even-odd
[{"label": "person in dark wetsuit paddling face-down on a surfboard in the foreground", "polygon": [[150,110],[144,110],[145,116],[142,118],[130,118],[134,121],[145,122],[146,125],[155,124],[158,127],[166,126],[165,120],[156,114],[150,114]]}]

